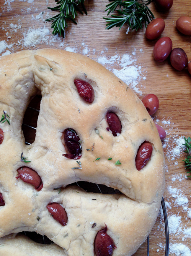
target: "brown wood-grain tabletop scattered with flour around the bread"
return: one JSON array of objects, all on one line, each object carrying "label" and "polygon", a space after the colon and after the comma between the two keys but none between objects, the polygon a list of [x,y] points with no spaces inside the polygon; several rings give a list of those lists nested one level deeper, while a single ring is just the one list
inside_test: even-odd
[{"label": "brown wood-grain tabletop scattered with flour around the bread", "polygon": [[[12,0],[13,1],[13,0]],[[180,158],[172,160],[168,158],[168,152],[170,148],[173,148],[173,136],[191,136],[191,76],[188,70],[176,71],[170,65],[169,60],[163,63],[157,63],[153,59],[153,46],[155,41],[150,41],[145,38],[145,28],[141,31],[131,32],[126,35],[126,27],[124,26],[120,31],[117,28],[111,30],[105,30],[106,22],[103,17],[106,17],[104,12],[105,5],[108,4],[108,0],[87,0],[85,6],[87,7],[88,16],[78,15],[78,25],[68,22],[68,28],[65,39],[60,39],[64,43],[64,47],[59,47],[60,40],[53,42],[52,46],[47,45],[46,42],[36,45],[36,48],[48,48],[57,47],[64,49],[65,47],[77,47],[83,50],[82,42],[88,46],[90,52],[89,58],[97,59],[102,50],[107,48],[104,53],[107,56],[113,56],[118,54],[122,56],[124,53],[132,53],[137,49],[136,58],[145,70],[146,80],[141,80],[139,85],[143,95],[148,93],[154,93],[158,96],[160,101],[160,107],[157,113],[153,116],[153,120],[160,120],[159,125],[162,125],[168,132],[168,147],[164,148],[165,161],[166,161],[166,184],[165,184],[165,201],[170,203],[171,208],[167,208],[168,216],[175,214],[181,216],[181,225],[186,228],[191,228],[191,222],[188,217],[187,211],[183,209],[183,206],[177,207],[175,198],[168,192],[168,187],[177,188],[181,190],[181,193],[189,200],[188,209],[191,208],[191,180],[186,179],[186,171],[184,170],[185,154],[181,153]],[[0,0],[0,40],[5,40],[8,44],[14,44],[10,49],[11,52],[17,52],[26,50],[29,47],[23,45],[23,33],[26,33],[29,28],[39,28],[46,25],[52,32],[51,23],[45,23],[41,19],[31,20],[31,15],[38,15],[40,12],[44,12],[43,18],[47,14],[47,6],[54,7],[54,0],[34,0],[33,3],[21,2],[15,0],[14,2]],[[28,8],[28,9],[27,9]],[[188,60],[191,60],[191,37],[182,35],[176,29],[176,20],[182,16],[191,17],[191,1],[190,0],[174,0],[173,7],[167,13],[157,12],[154,3],[150,4],[150,8],[153,11],[155,17],[160,17],[165,20],[166,27],[162,36],[168,36],[173,41],[173,48],[181,47],[188,55]],[[50,12],[50,11],[49,11]],[[50,13],[52,16],[52,13]],[[17,28],[15,32],[10,28],[10,24],[21,25],[21,28]],[[11,36],[10,39],[7,38]],[[21,43],[19,43],[19,42]],[[96,49],[93,52],[93,49]],[[139,50],[142,49],[143,53]],[[116,64],[117,69],[121,67]],[[142,98],[137,94],[139,98]],[[32,115],[36,114],[28,114]],[[162,123],[162,120],[170,121],[170,125]],[[32,123],[33,124],[33,123]],[[24,128],[23,128],[24,129]],[[31,135],[29,140],[33,140],[34,135]],[[176,176],[181,179],[175,179]],[[174,180],[172,178],[174,177]],[[157,218],[157,222],[150,234],[150,255],[162,256],[165,254],[164,249],[161,249],[159,244],[165,246],[165,232],[164,223],[161,217]],[[183,243],[191,249],[190,238],[184,238],[183,234],[170,234],[171,243]],[[159,251],[157,252],[157,249]],[[147,255],[147,243],[145,242],[134,254],[136,256]],[[170,254],[175,255],[175,254]],[[183,254],[180,254],[183,255]]]}]

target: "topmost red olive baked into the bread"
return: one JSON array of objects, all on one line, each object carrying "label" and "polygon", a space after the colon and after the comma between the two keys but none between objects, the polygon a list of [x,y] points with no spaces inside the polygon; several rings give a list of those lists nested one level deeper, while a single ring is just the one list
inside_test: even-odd
[{"label": "topmost red olive baked into the bread", "polygon": [[91,103],[94,99],[94,90],[90,83],[76,79],[74,80],[75,86],[77,87],[78,93],[80,97],[82,97],[85,101]]}]

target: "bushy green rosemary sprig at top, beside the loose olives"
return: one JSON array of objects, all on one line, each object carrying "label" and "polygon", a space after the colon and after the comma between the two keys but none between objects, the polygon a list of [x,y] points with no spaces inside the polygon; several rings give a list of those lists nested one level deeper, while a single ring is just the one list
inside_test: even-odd
[{"label": "bushy green rosemary sprig at top, beside the loose olives", "polygon": [[129,30],[138,30],[142,28],[142,23],[145,23],[145,27],[155,17],[147,5],[151,0],[109,0],[109,4],[106,5],[105,12],[113,13],[117,8],[117,12],[120,15],[111,15],[109,18],[104,18],[106,22],[106,29],[113,27],[121,27],[127,23],[127,33]]}]

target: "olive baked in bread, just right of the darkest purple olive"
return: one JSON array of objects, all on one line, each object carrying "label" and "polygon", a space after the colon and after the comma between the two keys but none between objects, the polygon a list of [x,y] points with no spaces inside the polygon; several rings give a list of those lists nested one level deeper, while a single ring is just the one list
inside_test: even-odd
[{"label": "olive baked in bread, just right of the darkest purple olive", "polygon": [[113,133],[113,136],[117,136],[117,133],[121,133],[121,122],[119,120],[119,117],[115,113],[107,113],[107,122],[109,125],[109,129]]}]

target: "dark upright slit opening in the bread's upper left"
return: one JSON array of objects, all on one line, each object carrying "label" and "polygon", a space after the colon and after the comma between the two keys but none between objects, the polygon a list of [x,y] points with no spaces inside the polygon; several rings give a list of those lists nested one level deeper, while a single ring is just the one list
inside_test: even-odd
[{"label": "dark upright slit opening in the bread's upper left", "polygon": [[36,130],[29,126],[36,128],[39,115],[39,111],[36,110],[40,109],[41,98],[41,95],[34,96],[34,98],[29,103],[23,118],[22,130],[24,133],[25,142],[30,144],[35,140]]}]

